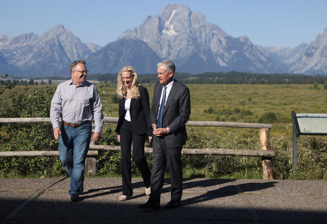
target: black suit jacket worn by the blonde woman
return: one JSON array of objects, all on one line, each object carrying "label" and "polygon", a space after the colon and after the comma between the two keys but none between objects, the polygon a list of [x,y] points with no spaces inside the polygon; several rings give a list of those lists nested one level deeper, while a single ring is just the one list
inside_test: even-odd
[{"label": "black suit jacket worn by the blonde woman", "polygon": [[[134,132],[138,135],[142,135],[148,132],[149,136],[152,136],[152,130],[149,129],[149,114],[150,114],[150,103],[149,103],[149,93],[147,89],[139,85],[138,86],[141,98],[131,99],[130,101],[130,120],[131,126]],[[125,110],[126,98],[119,99],[119,119],[116,127],[116,132],[120,134],[120,127],[123,125],[125,120],[126,110]]]}]

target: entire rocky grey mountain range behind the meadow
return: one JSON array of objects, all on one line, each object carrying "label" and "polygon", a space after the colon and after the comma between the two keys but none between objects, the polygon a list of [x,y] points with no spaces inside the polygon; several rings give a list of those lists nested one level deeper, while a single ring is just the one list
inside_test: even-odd
[{"label": "entire rocky grey mountain range behind the meadow", "polygon": [[167,5],[156,16],[100,47],[82,43],[57,25],[43,35],[0,35],[0,73],[69,75],[69,64],[83,59],[90,74],[117,73],[132,65],[137,73],[156,73],[156,64],[173,60],[177,72],[327,73],[327,28],[310,44],[262,47],[247,36],[232,37],[205,15],[184,5]]}]

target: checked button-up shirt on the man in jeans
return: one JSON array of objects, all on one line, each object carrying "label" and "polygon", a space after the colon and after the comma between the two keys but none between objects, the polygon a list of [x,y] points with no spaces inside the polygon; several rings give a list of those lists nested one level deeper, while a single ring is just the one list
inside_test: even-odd
[{"label": "checked button-up shirt on the man in jeans", "polygon": [[50,120],[53,128],[60,127],[59,118],[77,124],[94,121],[95,132],[101,132],[103,113],[94,84],[84,81],[76,86],[72,80],[60,83],[51,101]]}]

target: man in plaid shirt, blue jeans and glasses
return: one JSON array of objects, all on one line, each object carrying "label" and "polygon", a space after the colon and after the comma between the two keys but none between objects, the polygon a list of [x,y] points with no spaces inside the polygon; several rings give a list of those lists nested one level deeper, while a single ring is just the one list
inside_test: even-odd
[{"label": "man in plaid shirt, blue jeans and glasses", "polygon": [[[102,104],[94,84],[86,81],[85,61],[70,64],[72,79],[60,83],[51,101],[50,119],[55,139],[59,139],[59,157],[71,177],[71,201],[79,201],[84,190],[84,166],[91,139],[91,121],[95,123],[93,140],[100,139]],[[61,126],[59,118],[61,117]],[[60,135],[59,135],[60,134]]]}]

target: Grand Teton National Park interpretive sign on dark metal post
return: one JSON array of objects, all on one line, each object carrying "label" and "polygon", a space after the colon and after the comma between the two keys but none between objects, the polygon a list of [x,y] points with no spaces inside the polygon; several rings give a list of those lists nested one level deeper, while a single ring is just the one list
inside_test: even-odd
[{"label": "Grand Teton National Park interpretive sign on dark metal post", "polygon": [[293,171],[298,165],[298,138],[300,135],[327,135],[327,113],[291,112],[293,122]]}]

